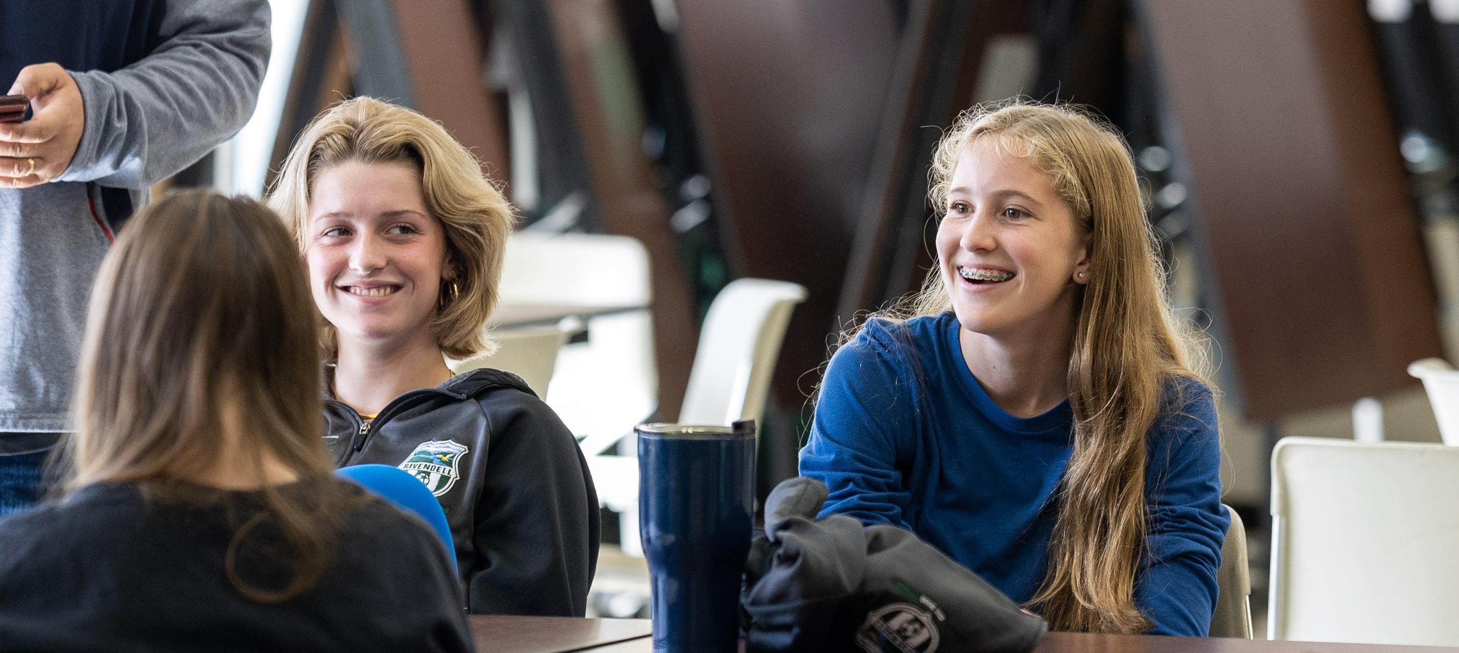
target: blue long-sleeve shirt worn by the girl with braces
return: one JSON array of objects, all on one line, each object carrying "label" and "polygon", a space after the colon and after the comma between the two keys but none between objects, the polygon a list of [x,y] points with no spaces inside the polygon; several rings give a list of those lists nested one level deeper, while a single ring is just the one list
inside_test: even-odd
[{"label": "blue long-sleeve shirt worn by the girl with braces", "polygon": [[[950,312],[870,321],[836,351],[801,474],[830,488],[823,515],[913,531],[1021,603],[1046,567],[1072,411],[1064,402],[1020,418],[999,408],[969,372],[957,329]],[[1151,633],[1205,636],[1230,517],[1211,391],[1195,380],[1180,389],[1185,404],[1147,440],[1135,603]]]}]

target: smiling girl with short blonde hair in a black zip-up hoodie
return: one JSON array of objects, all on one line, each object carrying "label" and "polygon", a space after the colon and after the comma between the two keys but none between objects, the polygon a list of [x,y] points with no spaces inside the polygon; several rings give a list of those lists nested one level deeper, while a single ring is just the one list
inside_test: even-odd
[{"label": "smiling girl with short blonde hair in a black zip-up hoodie", "polygon": [[512,207],[439,124],[355,98],[299,137],[270,201],[308,264],[337,466],[395,465],[441,501],[473,614],[582,617],[598,498],[578,440],[490,350]]}]

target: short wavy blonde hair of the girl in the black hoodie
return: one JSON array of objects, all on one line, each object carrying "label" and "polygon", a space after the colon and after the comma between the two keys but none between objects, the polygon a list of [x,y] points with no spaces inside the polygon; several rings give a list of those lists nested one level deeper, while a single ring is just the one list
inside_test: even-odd
[{"label": "short wavy blonde hair of the girl in the black hoodie", "polygon": [[[486,321],[496,309],[512,206],[481,173],[481,166],[444,127],[374,98],[343,101],[303,130],[268,194],[302,252],[309,245],[309,201],[320,175],[343,163],[403,163],[420,173],[426,208],[445,226],[446,255],[455,278],[442,284],[444,300],[430,321],[441,351],[452,359],[489,353]],[[455,284],[454,290],[448,289]],[[318,315],[318,310],[314,309]],[[334,326],[320,318],[327,359],[338,356]]]}]

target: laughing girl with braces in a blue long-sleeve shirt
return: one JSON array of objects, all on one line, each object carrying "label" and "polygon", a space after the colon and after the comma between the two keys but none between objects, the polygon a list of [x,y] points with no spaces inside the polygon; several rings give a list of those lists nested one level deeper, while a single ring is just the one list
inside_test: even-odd
[{"label": "laughing girl with braces in a blue long-sleeve shirt", "polygon": [[832,357],[801,474],[1055,630],[1205,636],[1230,517],[1121,136],[975,108],[938,144],[938,265]]}]

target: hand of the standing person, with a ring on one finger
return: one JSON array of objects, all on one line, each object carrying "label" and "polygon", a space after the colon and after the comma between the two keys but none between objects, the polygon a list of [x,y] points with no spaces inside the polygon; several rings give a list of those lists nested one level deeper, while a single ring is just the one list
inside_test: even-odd
[{"label": "hand of the standing person, with a ring on one finger", "polygon": [[0,122],[0,188],[29,188],[55,179],[71,165],[86,127],[76,80],[60,64],[20,69],[10,93],[31,98],[23,122]]}]

